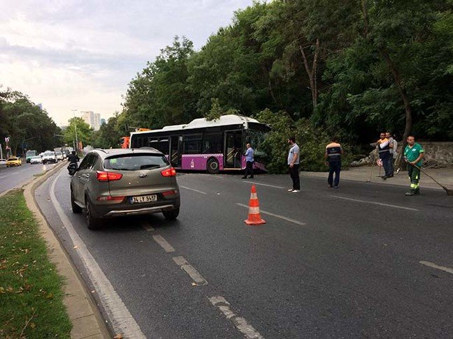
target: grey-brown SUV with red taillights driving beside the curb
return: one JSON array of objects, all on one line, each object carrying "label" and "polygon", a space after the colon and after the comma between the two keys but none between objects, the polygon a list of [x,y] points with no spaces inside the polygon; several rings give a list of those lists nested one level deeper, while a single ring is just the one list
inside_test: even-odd
[{"label": "grey-brown SUV with red taillights driving beside the curb", "polygon": [[178,217],[176,171],[151,148],[94,149],[71,178],[73,213],[85,212],[89,229],[103,218],[162,212]]}]

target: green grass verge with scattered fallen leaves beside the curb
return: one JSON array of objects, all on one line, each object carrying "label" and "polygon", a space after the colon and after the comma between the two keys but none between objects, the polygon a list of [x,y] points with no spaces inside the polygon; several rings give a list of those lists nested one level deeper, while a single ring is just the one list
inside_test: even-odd
[{"label": "green grass verge with scattered fallen leaves beside the curb", "polygon": [[22,190],[0,197],[0,338],[70,338],[63,278]]}]

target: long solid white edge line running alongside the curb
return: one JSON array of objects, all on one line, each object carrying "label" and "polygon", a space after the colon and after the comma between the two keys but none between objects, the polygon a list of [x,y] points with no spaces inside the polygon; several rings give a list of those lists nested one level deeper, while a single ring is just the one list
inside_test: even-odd
[{"label": "long solid white edge line running alongside the curb", "polygon": [[82,241],[80,236],[71,223],[71,220],[64,213],[62,206],[59,204],[57,197],[55,197],[55,183],[60,176],[62,176],[63,171],[55,178],[50,186],[50,199],[55,206],[55,211],[57,211],[59,218],[62,220],[63,225],[66,226],[71,241],[74,246],[78,246],[77,252],[82,262],[87,270],[89,280],[91,280],[96,293],[101,299],[101,303],[106,309],[108,319],[110,320],[115,333],[122,333],[126,338],[143,338],[145,335],[141,331],[140,327],[136,323],[134,317],[127,309],[127,306],[124,305],[120,296],[117,294],[113,285],[110,283],[106,275],[99,267],[99,264],[96,262],[94,257],[89,253],[89,250],[85,243]]}]

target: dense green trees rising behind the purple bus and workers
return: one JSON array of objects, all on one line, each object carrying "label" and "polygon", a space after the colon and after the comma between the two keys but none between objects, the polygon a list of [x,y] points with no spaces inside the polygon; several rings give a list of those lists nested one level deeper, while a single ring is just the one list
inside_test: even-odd
[{"label": "dense green trees rising behind the purple bus and workers", "polygon": [[317,169],[327,134],[354,150],[384,129],[400,140],[453,140],[452,8],[452,0],[255,2],[201,50],[178,37],[161,50],[129,83],[117,124],[161,128],[231,110],[282,119],[268,142],[274,171],[292,128],[312,149],[302,167]]}]

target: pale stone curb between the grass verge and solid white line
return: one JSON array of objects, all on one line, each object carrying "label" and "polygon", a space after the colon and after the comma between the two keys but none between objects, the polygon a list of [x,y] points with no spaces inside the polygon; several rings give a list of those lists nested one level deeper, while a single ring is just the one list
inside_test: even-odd
[{"label": "pale stone curb between the grass verge and solid white line", "polygon": [[[77,271],[69,254],[60,243],[58,237],[54,234],[52,227],[41,213],[41,210],[36,203],[34,191],[47,181],[50,176],[58,172],[64,167],[57,165],[45,172],[43,176],[39,176],[28,181],[24,187],[24,197],[29,210],[34,214],[38,221],[38,226],[43,238],[48,244],[48,256],[50,261],[57,266],[58,273],[64,277],[65,284],[63,290],[65,292],[64,305],[69,315],[69,319],[73,324],[71,329],[71,338],[73,339],[99,339],[113,338],[108,331],[106,324],[93,301],[91,294]],[[16,186],[17,189],[18,186]],[[22,186],[20,186],[22,187]],[[9,192],[8,190],[7,192]]]}]

